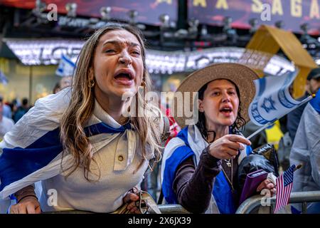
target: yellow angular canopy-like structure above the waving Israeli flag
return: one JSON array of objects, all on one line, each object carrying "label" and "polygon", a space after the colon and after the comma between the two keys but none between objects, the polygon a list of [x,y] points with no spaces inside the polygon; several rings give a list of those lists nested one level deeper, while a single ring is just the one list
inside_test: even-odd
[{"label": "yellow angular canopy-like structure above the waving Israeli flag", "polygon": [[[302,43],[290,31],[262,25],[246,46],[247,49],[276,54],[279,49],[299,68],[299,74],[294,80],[294,98],[304,94],[306,76],[318,66],[309,53],[302,47]],[[257,70],[261,75],[261,71]]]}]

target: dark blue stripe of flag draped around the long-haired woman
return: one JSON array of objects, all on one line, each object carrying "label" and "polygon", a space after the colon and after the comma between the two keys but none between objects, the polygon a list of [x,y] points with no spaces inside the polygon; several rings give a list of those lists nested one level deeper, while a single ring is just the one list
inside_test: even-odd
[{"label": "dark blue stripe of flag draped around the long-haired woman", "polygon": [[[124,133],[127,129],[131,129],[129,123],[121,128],[112,128],[101,122],[85,128],[85,134],[90,137],[102,133]],[[63,145],[59,134],[59,128],[55,128],[26,148],[4,148],[0,156],[0,191],[11,183],[45,167],[62,152]]]}]

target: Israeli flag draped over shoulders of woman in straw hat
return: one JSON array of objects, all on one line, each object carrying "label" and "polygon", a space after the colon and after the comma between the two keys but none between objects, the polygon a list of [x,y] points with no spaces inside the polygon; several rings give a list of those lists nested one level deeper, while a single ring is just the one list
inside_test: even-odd
[{"label": "Israeli flag draped over shoulders of woman in straw hat", "polygon": [[[188,157],[192,157],[193,162],[197,165],[200,160],[200,155],[206,147],[208,147],[208,142],[203,139],[196,125],[186,126],[186,128],[183,128],[178,133],[176,138],[171,139],[168,145],[166,145],[161,165],[161,184],[167,203],[178,203],[173,190],[173,182],[178,165]],[[240,156],[238,157],[238,164],[244,157],[249,155],[251,151],[251,147],[245,147],[244,150],[241,150]],[[206,213],[232,214],[235,213],[235,209],[230,186],[223,172],[220,172],[217,177],[215,177],[213,197],[211,197],[210,205]]]}]

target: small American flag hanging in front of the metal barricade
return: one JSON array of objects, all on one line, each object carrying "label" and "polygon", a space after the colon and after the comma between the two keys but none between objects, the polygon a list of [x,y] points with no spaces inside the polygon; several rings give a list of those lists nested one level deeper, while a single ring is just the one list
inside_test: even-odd
[{"label": "small American flag hanging in front of the metal barricade", "polygon": [[274,214],[282,207],[288,204],[290,193],[292,190],[293,173],[296,166],[292,165],[282,175],[277,178],[277,195],[276,195],[276,207],[274,208]]}]

